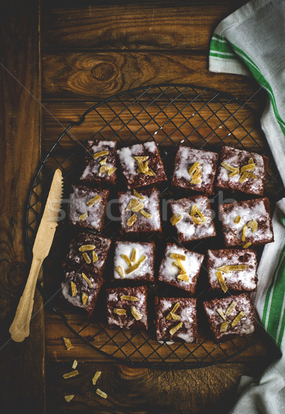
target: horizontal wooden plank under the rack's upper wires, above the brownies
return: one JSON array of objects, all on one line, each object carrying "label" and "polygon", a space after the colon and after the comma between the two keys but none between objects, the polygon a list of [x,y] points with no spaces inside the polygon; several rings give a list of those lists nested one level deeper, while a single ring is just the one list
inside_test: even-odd
[{"label": "horizontal wooden plank under the rack's upper wires, above the brownies", "polygon": [[[235,145],[237,140],[242,139],[243,145],[247,148],[251,148],[256,141],[257,152],[258,146],[262,147],[264,144],[257,115],[241,103],[231,102],[225,107],[218,102],[211,102],[206,106],[201,100],[194,101],[191,105],[185,101],[176,101],[176,108],[167,106],[168,104],[168,101],[160,101],[149,106],[147,102],[140,102],[132,103],[125,109],[121,103],[109,102],[108,106],[104,104],[89,112],[83,124],[70,130],[70,135],[78,141],[89,139],[96,133],[98,137],[109,139],[119,131],[118,137],[123,140],[129,139],[131,135],[144,140],[155,134],[157,141],[163,141],[165,137],[170,136],[172,141],[177,143],[192,134],[193,144],[198,144],[202,137],[208,136],[211,146],[218,146],[220,140],[226,137],[227,144]],[[45,103],[43,150],[49,150],[64,129],[72,121],[81,119],[83,112],[91,106],[92,103]],[[260,101],[253,101],[251,107],[260,110]],[[197,110],[199,115],[196,113]],[[120,115],[116,117],[115,114]],[[152,117],[154,119],[151,119]],[[106,125],[108,122],[110,126]],[[249,134],[250,131],[252,132]],[[228,135],[229,132],[232,132],[231,135]],[[172,143],[169,140],[165,145]],[[63,139],[61,146],[70,150],[74,144],[70,139]]]}]

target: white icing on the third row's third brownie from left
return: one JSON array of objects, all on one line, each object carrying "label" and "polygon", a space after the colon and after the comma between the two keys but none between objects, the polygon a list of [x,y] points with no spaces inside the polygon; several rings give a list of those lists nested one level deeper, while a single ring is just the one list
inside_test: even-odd
[{"label": "white icing on the third row's third brownie from left", "polygon": [[200,267],[203,262],[203,255],[191,252],[190,250],[186,250],[182,247],[176,246],[175,244],[167,246],[165,250],[165,258],[162,260],[159,270],[159,279],[165,282],[177,282],[177,276],[180,273],[180,270],[176,266],[173,266],[173,262],[176,262],[176,260],[169,257],[171,253],[179,253],[180,255],[184,255],[186,257],[186,259],[182,260],[181,263],[189,276],[189,282],[182,280],[178,282],[178,286],[187,289],[189,284],[193,284],[193,278],[196,277],[197,273],[200,271]]}]

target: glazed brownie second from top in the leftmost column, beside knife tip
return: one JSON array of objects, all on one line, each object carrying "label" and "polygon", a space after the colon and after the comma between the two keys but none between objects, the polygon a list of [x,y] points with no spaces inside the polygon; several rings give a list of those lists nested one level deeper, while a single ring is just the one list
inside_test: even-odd
[{"label": "glazed brownie second from top in the leftmost column, beside knife tip", "polygon": [[72,186],[72,189],[68,206],[68,224],[100,232],[104,224],[109,190],[86,186]]}]

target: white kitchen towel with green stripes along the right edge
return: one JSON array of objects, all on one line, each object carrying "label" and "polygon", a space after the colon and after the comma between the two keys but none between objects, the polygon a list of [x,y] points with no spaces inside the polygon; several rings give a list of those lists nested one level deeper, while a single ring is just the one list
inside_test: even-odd
[{"label": "white kitchen towel with green stripes along the right edge", "polygon": [[[216,28],[209,70],[253,76],[268,94],[261,125],[285,185],[285,0],[251,0]],[[252,295],[260,322],[282,357],[254,380],[242,377],[231,414],[285,413],[285,199],[273,215],[275,242],[264,247]]]}]

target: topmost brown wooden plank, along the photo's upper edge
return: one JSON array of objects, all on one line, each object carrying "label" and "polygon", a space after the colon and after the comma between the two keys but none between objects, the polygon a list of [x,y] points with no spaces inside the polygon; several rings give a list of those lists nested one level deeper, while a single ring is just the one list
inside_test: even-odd
[{"label": "topmost brown wooden plank, along the photo's upper edge", "polygon": [[206,50],[218,23],[245,2],[43,2],[43,48]]}]

